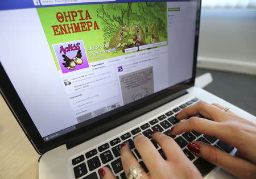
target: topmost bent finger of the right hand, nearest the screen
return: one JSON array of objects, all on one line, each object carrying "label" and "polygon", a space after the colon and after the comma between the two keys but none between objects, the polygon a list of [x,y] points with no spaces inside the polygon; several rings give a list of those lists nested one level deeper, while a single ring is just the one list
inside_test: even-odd
[{"label": "topmost bent finger of the right hand, nearest the screen", "polygon": [[228,114],[225,111],[218,109],[214,105],[210,105],[206,102],[200,101],[195,105],[191,105],[181,110],[179,114],[176,115],[177,119],[185,119],[189,116],[201,114],[214,121],[223,121],[228,118]]}]

